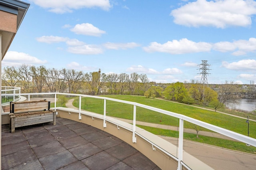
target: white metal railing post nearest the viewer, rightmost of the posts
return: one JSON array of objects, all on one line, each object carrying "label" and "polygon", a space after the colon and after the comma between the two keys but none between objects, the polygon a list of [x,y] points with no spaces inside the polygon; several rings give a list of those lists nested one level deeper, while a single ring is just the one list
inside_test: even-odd
[{"label": "white metal railing post nearest the viewer, rightmost of the posts", "polygon": [[178,149],[178,170],[182,170],[181,161],[183,160],[183,126],[184,120],[180,119],[180,126],[179,126],[179,149]]}]

